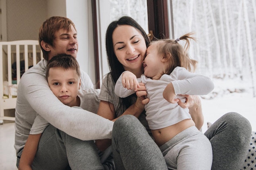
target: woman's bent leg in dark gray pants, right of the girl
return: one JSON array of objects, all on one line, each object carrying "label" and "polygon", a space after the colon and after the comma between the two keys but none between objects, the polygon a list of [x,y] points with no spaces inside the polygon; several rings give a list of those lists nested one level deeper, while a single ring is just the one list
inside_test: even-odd
[{"label": "woman's bent leg in dark gray pants, right of the girl", "polygon": [[213,149],[211,169],[240,169],[248,153],[251,133],[250,122],[238,113],[226,113],[214,122],[204,133]]}]

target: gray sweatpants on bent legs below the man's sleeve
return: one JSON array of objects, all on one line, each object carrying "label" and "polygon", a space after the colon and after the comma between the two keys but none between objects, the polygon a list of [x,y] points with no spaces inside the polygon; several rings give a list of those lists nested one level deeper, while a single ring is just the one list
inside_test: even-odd
[{"label": "gray sweatpants on bent legs below the man's sleeve", "polygon": [[[18,157],[22,152],[18,153]],[[17,158],[17,167],[19,158]],[[70,167],[69,167],[70,166]],[[82,141],[49,125],[43,132],[32,169],[103,170],[94,141]]]}]

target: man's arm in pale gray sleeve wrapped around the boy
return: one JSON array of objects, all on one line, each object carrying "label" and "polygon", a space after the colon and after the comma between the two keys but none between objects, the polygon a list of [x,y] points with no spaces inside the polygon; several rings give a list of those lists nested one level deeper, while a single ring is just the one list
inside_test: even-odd
[{"label": "man's arm in pale gray sleeve wrapped around the boy", "polygon": [[[19,94],[23,95],[36,113],[68,135],[81,140],[112,137],[112,121],[89,111],[64,105],[54,96],[43,75],[37,73],[22,75],[18,87]],[[19,107],[22,104],[17,101]]]}]

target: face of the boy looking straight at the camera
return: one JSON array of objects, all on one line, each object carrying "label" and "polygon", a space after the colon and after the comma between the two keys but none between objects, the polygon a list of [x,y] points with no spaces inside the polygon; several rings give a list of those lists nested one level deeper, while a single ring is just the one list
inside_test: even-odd
[{"label": "face of the boy looking straight at the camera", "polygon": [[59,67],[50,68],[47,80],[54,95],[61,100],[64,105],[70,107],[80,105],[80,100],[77,100],[77,95],[81,82],[76,70],[64,70]]}]

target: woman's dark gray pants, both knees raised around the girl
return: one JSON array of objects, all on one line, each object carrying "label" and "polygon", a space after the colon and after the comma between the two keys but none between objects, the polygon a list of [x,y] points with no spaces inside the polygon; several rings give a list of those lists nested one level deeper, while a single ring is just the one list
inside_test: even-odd
[{"label": "woman's dark gray pants, both knees raised around the girl", "polygon": [[[213,149],[212,170],[238,169],[247,155],[252,126],[238,113],[227,113],[204,133]],[[161,150],[139,120],[131,115],[115,121],[112,152],[119,170],[164,170]]]}]

